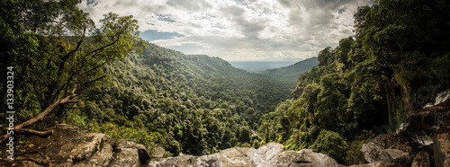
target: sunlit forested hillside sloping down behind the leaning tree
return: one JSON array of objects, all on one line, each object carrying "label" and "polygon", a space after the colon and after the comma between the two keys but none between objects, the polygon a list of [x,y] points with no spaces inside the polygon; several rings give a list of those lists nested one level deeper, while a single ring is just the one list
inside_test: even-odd
[{"label": "sunlit forested hillside sloping down behind the leaning tree", "polygon": [[292,97],[291,89],[269,76],[149,43],[139,56],[105,69],[112,84],[85,102],[91,109],[84,111],[86,119],[103,124],[91,128],[107,134],[140,129],[144,135],[130,138],[162,145],[172,154],[254,145],[251,133],[259,118]]}]

